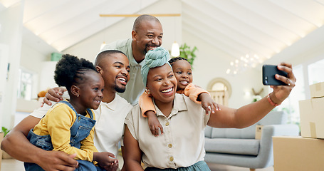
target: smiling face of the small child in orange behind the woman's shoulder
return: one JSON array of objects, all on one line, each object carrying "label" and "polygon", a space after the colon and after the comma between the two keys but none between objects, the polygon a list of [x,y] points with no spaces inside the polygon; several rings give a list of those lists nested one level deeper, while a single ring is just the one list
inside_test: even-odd
[{"label": "smiling face of the small child in orange behind the woman's shoulder", "polygon": [[175,61],[172,63],[172,69],[175,78],[177,78],[177,90],[183,90],[188,86],[189,83],[192,83],[192,66],[188,61]]}]

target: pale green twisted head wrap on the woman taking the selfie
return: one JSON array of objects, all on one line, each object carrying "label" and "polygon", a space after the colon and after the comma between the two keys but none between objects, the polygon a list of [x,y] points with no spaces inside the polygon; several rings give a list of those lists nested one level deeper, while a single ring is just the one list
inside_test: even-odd
[{"label": "pale green twisted head wrap on the woman taking the selfie", "polygon": [[168,62],[169,58],[169,51],[162,47],[155,48],[154,50],[150,50],[146,53],[145,63],[141,69],[144,86],[146,86],[147,74],[149,73],[150,68],[163,66],[165,63],[169,64],[171,67],[170,63]]}]

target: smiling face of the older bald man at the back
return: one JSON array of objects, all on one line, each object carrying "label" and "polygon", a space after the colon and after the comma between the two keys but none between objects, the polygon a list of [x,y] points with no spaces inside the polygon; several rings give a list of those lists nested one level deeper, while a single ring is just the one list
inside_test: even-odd
[{"label": "smiling face of the older bald man at the back", "polygon": [[162,37],[162,25],[155,20],[142,21],[136,31],[132,31],[132,39],[136,45],[135,50],[143,54],[161,46]]}]

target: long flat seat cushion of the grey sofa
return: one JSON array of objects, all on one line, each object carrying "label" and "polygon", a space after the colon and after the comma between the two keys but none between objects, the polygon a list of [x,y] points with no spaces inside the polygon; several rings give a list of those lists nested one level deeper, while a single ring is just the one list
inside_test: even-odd
[{"label": "long flat seat cushion of the grey sofa", "polygon": [[258,155],[260,140],[205,138],[206,152],[219,152],[238,155]]}]

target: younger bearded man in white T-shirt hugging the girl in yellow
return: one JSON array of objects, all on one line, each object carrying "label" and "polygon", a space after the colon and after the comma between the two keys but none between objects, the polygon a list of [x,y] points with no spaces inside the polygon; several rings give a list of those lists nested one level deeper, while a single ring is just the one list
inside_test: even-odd
[{"label": "younger bearded man in white T-shirt hugging the girl in yellow", "polygon": [[[102,51],[95,60],[95,66],[103,77],[105,88],[103,100],[97,110],[93,110],[97,120],[95,124],[95,147],[99,152],[111,152],[111,157],[102,159],[100,166],[105,170],[117,170],[117,143],[122,138],[124,120],[132,108],[130,103],[116,93],[125,91],[130,78],[130,66],[125,53],[116,50]],[[74,155],[64,152],[46,151],[33,146],[26,138],[28,131],[43,118],[51,106],[35,110],[10,131],[1,143],[1,149],[23,162],[33,162],[44,170],[75,170],[78,162]]]}]

